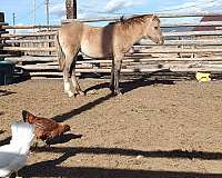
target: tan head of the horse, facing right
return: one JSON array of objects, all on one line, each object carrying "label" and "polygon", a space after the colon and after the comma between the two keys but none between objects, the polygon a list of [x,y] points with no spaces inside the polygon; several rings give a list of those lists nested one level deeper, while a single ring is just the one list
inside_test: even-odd
[{"label": "tan head of the horse, facing right", "polygon": [[145,30],[145,36],[149,37],[153,42],[163,44],[164,38],[160,29],[160,19],[158,16],[152,16],[148,19],[148,28]]}]

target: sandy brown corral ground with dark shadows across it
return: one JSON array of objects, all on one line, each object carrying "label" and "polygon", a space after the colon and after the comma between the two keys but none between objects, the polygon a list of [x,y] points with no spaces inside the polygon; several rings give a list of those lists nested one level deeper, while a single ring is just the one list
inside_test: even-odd
[{"label": "sandy brown corral ground with dark shadows across it", "polygon": [[32,150],[24,177],[222,177],[222,82],[80,81],[85,97],[68,98],[62,80],[0,87],[0,145],[21,110],[54,118],[72,131]]}]

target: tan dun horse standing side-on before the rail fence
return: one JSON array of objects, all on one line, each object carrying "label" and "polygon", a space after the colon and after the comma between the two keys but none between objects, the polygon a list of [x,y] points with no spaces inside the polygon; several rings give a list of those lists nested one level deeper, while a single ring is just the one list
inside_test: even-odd
[{"label": "tan dun horse standing side-on before the rail fence", "polygon": [[60,69],[63,71],[64,92],[73,96],[70,89],[69,72],[77,93],[83,95],[75,78],[75,61],[81,51],[91,58],[112,59],[110,89],[119,95],[119,78],[122,59],[130,48],[142,38],[155,43],[164,42],[157,16],[144,14],[105,27],[90,27],[82,22],[72,22],[61,27],[57,37]]}]

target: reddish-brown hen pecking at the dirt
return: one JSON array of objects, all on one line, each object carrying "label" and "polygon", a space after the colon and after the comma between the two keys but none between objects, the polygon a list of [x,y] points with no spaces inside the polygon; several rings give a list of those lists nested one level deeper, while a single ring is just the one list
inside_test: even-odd
[{"label": "reddish-brown hen pecking at the dirt", "polygon": [[48,146],[48,141],[56,137],[70,131],[69,125],[63,125],[54,121],[53,119],[37,117],[29,111],[22,110],[22,117],[24,122],[29,122],[34,126],[34,135],[37,139],[41,139]]}]

